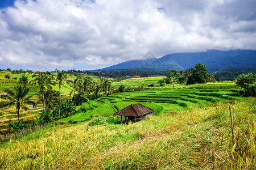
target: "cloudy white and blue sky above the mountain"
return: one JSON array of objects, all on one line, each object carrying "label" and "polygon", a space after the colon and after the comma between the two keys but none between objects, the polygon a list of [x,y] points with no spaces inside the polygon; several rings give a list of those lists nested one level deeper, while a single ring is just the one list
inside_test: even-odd
[{"label": "cloudy white and blue sky above the mountain", "polygon": [[101,69],[256,49],[256,0],[0,0],[0,69]]}]

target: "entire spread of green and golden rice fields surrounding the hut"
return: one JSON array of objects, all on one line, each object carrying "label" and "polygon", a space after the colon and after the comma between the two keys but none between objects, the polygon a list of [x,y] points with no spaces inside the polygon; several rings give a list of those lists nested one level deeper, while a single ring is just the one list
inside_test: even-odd
[{"label": "entire spread of green and golden rice fields surrounding the hut", "polygon": [[[56,80],[60,73],[48,76]],[[16,78],[4,78],[7,74]],[[19,86],[23,75],[28,82],[33,82],[35,74],[1,71],[0,92]],[[40,87],[31,83],[24,86],[30,87],[28,95],[33,95],[31,99],[36,105],[28,104],[28,109],[20,109],[20,121],[15,105],[1,108],[2,169],[255,168],[255,97],[245,96],[236,82],[184,85],[178,80],[163,83],[163,79],[168,80],[166,76],[117,81],[81,74],[65,75],[60,88],[63,104],[60,109],[65,114],[60,113],[60,117],[58,95],[57,98],[54,95],[58,84],[46,88],[44,98],[48,109],[45,111]],[[80,83],[76,89],[76,106],[70,103],[70,100],[75,102],[72,84],[68,83],[71,79],[73,82],[79,79]],[[100,90],[104,81],[109,86]],[[97,87],[94,83],[100,82],[98,91],[92,89]],[[154,87],[148,87],[150,83]],[[88,94],[87,97],[82,97],[82,93]],[[1,99],[1,103],[7,100],[8,96]],[[137,103],[153,109],[153,116],[138,122],[123,119],[121,124],[120,116],[113,115]]]}]

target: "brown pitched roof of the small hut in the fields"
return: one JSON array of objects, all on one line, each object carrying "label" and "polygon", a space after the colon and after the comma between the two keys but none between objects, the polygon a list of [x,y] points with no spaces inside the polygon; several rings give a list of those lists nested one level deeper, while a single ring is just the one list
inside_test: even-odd
[{"label": "brown pitched roof of the small hut in the fields", "polygon": [[153,109],[150,109],[148,107],[145,107],[142,104],[131,104],[127,106],[126,108],[121,109],[118,112],[115,112],[114,115],[119,116],[143,116],[144,114],[152,113],[154,112]]}]

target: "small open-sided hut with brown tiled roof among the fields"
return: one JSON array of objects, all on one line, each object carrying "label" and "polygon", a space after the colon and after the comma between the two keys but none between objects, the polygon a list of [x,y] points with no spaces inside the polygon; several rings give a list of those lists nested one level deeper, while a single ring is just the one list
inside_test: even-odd
[{"label": "small open-sided hut with brown tiled roof among the fields", "polygon": [[131,104],[126,108],[121,109],[118,112],[115,112],[113,115],[121,116],[121,124],[123,122],[122,117],[125,117],[125,124],[128,124],[129,121],[137,122],[144,119],[144,117],[152,116],[154,110],[148,107],[145,107],[142,104]]}]

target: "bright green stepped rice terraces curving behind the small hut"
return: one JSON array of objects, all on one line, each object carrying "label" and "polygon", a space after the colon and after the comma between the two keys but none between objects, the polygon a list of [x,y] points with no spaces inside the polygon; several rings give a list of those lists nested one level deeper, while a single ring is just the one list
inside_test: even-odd
[{"label": "bright green stepped rice terraces curving behind the small hut", "polygon": [[[138,84],[138,82],[137,82]],[[205,86],[208,88],[205,88]],[[155,110],[153,114],[167,113],[189,109],[192,105],[201,107],[217,101],[230,102],[242,100],[237,96],[240,90],[233,82],[209,83],[202,85],[166,85],[164,87],[130,86],[131,92],[122,92],[97,100],[88,101],[77,107],[75,116],[63,118],[61,122],[78,122],[90,120],[93,116],[112,116],[114,112],[133,103],[141,103]],[[203,87],[203,88],[199,88]],[[216,87],[216,88],[214,88]],[[220,88],[222,87],[222,88]]]}]

